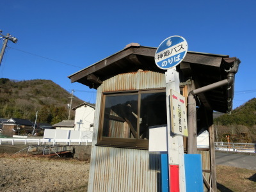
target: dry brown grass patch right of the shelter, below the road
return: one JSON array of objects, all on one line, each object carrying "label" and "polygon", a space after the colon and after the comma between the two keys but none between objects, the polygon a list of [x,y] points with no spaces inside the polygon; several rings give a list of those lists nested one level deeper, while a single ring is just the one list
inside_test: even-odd
[{"label": "dry brown grass patch right of the shelter, below the road", "polygon": [[256,191],[255,170],[217,165],[218,191]]}]

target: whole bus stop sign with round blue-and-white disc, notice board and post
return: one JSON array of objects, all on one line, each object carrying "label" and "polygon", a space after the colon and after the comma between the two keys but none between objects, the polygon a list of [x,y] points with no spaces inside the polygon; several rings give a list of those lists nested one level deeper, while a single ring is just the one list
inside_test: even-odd
[{"label": "whole bus stop sign with round blue-and-white disc, notice board and post", "polygon": [[187,41],[182,36],[174,35],[163,40],[155,54],[157,67],[167,70],[165,73],[167,143],[170,191],[172,192],[186,191],[183,136],[188,136],[188,126],[186,125],[186,106],[184,97],[180,95],[179,72],[176,66],[182,62],[187,52]]}]

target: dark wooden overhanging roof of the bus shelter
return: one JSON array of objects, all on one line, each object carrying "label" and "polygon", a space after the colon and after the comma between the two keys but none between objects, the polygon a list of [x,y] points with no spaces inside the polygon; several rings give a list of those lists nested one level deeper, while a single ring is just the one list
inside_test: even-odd
[{"label": "dark wooden overhanging roof of the bus shelter", "polygon": [[[158,68],[154,60],[156,49],[156,47],[129,44],[121,51],[79,70],[68,78],[71,83],[78,82],[90,88],[97,88],[106,79],[118,74],[137,72],[139,69],[164,74],[166,70]],[[227,79],[228,70],[234,66],[235,62],[240,63],[240,60],[229,58],[228,55],[188,51],[182,63],[177,66],[177,71],[182,74],[182,77],[186,77],[185,79],[192,77],[196,88],[201,88]],[[180,82],[184,80],[182,77]],[[227,86],[222,86],[200,93],[198,98],[207,108],[226,113],[230,108],[232,109],[230,99],[233,99],[233,95],[234,85],[231,92],[227,90]]]}]

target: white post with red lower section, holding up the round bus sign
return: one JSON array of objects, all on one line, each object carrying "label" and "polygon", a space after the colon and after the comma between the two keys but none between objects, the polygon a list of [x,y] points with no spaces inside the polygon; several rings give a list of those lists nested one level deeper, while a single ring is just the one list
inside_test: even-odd
[{"label": "white post with red lower section, holding up the round bus sign", "polygon": [[[170,191],[186,191],[186,179],[184,168],[183,137],[172,132],[171,122],[171,90],[180,92],[179,72],[176,67],[168,69],[166,79],[166,109],[167,109],[167,140],[168,140],[168,164],[170,177]],[[175,171],[176,170],[176,171]]]}]

